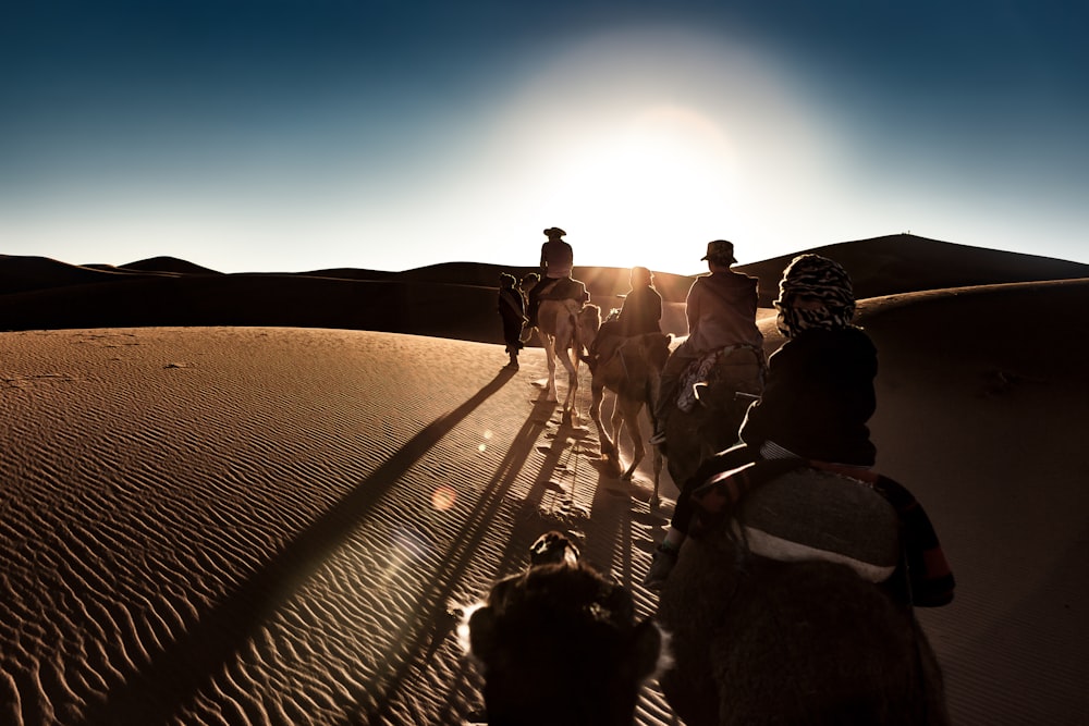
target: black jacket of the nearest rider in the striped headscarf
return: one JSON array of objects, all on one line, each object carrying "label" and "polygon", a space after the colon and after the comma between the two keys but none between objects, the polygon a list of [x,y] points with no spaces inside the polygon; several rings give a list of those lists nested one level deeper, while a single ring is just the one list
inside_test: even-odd
[{"label": "black jacket of the nearest rider in the striped headscarf", "polygon": [[802,331],[768,359],[742,440],[755,451],[770,440],[803,458],[873,466],[866,422],[877,408],[877,348],[860,328]]}]

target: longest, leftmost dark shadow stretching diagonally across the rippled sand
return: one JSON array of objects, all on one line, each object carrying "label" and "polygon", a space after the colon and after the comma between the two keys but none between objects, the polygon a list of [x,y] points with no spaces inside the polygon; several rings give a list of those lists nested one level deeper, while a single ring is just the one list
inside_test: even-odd
[{"label": "longest, leftmost dark shadow stretching diagonally across the rippled sand", "polygon": [[[175,716],[201,688],[210,685],[213,675],[222,672],[258,632],[260,624],[290,600],[295,588],[284,585],[302,583],[428,450],[513,376],[510,370],[500,372],[472,398],[425,427],[262,569],[217,606],[198,616],[182,637],[152,654],[143,668],[120,674],[110,684],[105,700],[88,704],[82,723],[85,726],[150,726]],[[528,455],[528,451],[524,455]],[[497,473],[495,480],[501,478]]]}]

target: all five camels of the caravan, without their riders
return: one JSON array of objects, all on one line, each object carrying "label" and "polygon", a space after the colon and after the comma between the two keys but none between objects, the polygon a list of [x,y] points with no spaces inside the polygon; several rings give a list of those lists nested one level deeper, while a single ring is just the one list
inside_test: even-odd
[{"label": "all five camels of the caravan, without their riders", "polygon": [[[559,359],[568,371],[564,411],[574,417],[577,354],[592,340],[600,311],[574,300],[542,302],[539,322],[549,395],[555,399]],[[592,370],[590,415],[602,457],[617,476],[631,477],[645,455],[638,414],[653,399],[669,339],[641,336],[623,348]],[[706,454],[732,443],[723,434],[737,431],[749,395],[735,395],[741,386],[730,376],[729,366],[720,365],[701,405],[670,417],[665,448],[674,481],[683,482]],[[600,419],[607,387],[617,396],[609,431]],[[635,447],[623,471],[621,422]],[[661,459],[656,447],[654,505]],[[807,469],[793,476],[788,484],[802,488],[811,485],[807,477],[829,477]],[[852,528],[888,516],[880,495],[869,491],[867,499],[856,483],[841,479],[832,476],[831,484],[859,497]],[[735,521],[744,524],[746,506],[760,506],[750,499]],[[941,668],[910,605],[842,562],[754,554],[742,531],[723,526],[690,538],[654,617],[644,622],[635,617],[632,594],[578,562],[566,538],[542,537],[526,569],[497,582],[466,618],[467,650],[485,678],[488,723],[629,726],[639,689],[656,676],[688,726],[949,723]],[[886,549],[895,558],[902,543],[894,528],[888,532]]]}]

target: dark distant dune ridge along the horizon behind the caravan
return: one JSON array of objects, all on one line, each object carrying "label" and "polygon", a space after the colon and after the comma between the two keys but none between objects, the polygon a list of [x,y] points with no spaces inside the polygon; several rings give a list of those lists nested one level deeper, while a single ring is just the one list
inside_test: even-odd
[{"label": "dark distant dune ridge along the horizon behind the caravan", "polygon": [[[530,250],[535,251],[535,250]],[[892,235],[812,250],[840,261],[859,298],[1036,280],[1089,278],[1089,264]],[[693,269],[699,271],[699,245]],[[536,254],[536,253],[535,253]],[[527,256],[528,253],[527,253]],[[531,256],[530,256],[531,257]],[[737,269],[760,280],[770,307],[793,255]],[[577,250],[576,250],[577,260]],[[448,262],[404,272],[317,270],[223,274],[172,257],[122,267],[0,257],[0,330],[143,325],[342,328],[501,343],[494,297],[500,272],[536,268]],[[628,290],[627,270],[575,268],[591,302],[608,312]],[[656,273],[668,306],[684,303],[694,276]],[[668,332],[686,332],[683,313]]]}]

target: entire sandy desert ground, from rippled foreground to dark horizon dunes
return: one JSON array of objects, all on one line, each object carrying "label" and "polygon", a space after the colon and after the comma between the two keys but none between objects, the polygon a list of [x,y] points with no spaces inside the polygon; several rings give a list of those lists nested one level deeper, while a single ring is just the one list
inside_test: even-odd
[{"label": "entire sandy desert ground, from rippled foreground to dark horizon dunes", "polygon": [[[954,723],[1089,723],[1089,266],[818,251],[878,346],[877,468],[957,578],[920,612]],[[790,257],[741,266],[766,305]],[[502,369],[495,281],[529,269],[0,257],[0,724],[466,723],[456,611],[550,529],[652,614],[676,487],[651,509],[647,465],[599,470],[540,401],[541,350]],[[605,307],[627,288],[576,276]],[[659,275],[678,334],[690,281]],[[676,723],[654,684],[636,715]]]}]

